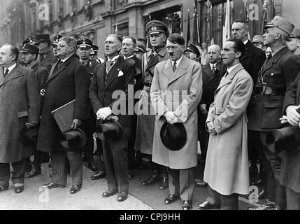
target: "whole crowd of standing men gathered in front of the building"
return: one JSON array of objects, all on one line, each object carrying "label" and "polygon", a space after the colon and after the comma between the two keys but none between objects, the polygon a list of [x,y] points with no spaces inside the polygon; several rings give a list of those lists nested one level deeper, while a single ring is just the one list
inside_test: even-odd
[{"label": "whole crowd of standing men gathered in front of the building", "polygon": [[[235,20],[223,46],[200,47],[152,20],[148,44],[108,35],[105,59],[89,38],[36,34],[20,50],[3,45],[0,191],[8,190],[12,173],[15,193],[22,193],[24,179],[49,162],[51,181],[43,187],[65,188],[71,174],[70,193],[78,193],[86,161],[92,180],[107,179],[102,197],[117,194],[122,202],[146,158],[152,173],[141,186],[169,188],[165,204],[180,199],[191,209],[197,186],[209,194],[198,209],[238,209],[238,195],[248,195],[252,184],[265,198],[255,210],[300,209],[298,147],[284,143],[278,152],[283,140],[271,136],[272,145],[269,137],[290,125],[290,141],[298,138],[300,29],[280,16],[264,28],[251,41],[248,22]],[[133,106],[131,86],[138,94],[134,114],[120,113],[120,105]],[[123,97],[115,98],[120,90]],[[69,104],[64,129],[53,114]],[[199,165],[203,179],[195,179]]]}]

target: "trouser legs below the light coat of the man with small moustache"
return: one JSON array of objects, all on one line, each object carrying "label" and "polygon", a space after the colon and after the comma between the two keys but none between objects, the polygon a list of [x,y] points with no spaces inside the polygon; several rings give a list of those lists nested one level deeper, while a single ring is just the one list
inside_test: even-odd
[{"label": "trouser legs below the light coat of the man with small moustache", "polygon": [[181,200],[192,200],[194,192],[194,168],[171,169],[169,173],[169,192],[171,195],[180,195]]}]

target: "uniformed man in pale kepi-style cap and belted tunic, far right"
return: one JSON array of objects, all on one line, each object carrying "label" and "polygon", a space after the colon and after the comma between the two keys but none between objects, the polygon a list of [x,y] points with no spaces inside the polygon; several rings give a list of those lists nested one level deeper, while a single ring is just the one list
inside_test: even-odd
[{"label": "uniformed man in pale kepi-style cap and belted tunic, far right", "polygon": [[[265,29],[264,45],[272,49],[272,57],[266,59],[259,72],[254,99],[248,107],[248,130],[252,130],[256,135],[255,144],[261,140],[264,155],[271,164],[271,167],[268,167],[267,163],[262,163],[263,172],[270,172],[270,168],[273,172],[264,183],[266,199],[271,198],[273,194],[276,209],[286,209],[285,187],[279,183],[282,155],[271,153],[266,148],[266,134],[280,127],[279,119],[282,116],[285,92],[299,73],[296,59],[286,46],[294,25],[289,20],[276,16]],[[271,207],[272,204],[267,203],[256,209]]]}]

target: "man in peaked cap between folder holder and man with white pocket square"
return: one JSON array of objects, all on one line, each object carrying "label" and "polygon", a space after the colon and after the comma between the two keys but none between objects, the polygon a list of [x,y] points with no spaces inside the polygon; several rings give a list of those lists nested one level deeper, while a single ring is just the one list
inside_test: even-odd
[{"label": "man in peaked cap between folder holder and man with white pocket square", "polygon": [[[91,80],[94,70],[97,66],[97,63],[92,62],[90,59],[90,51],[92,48],[92,41],[88,38],[81,38],[77,41],[77,54],[79,56],[79,61],[85,65],[87,68],[87,73],[89,74],[89,78]],[[85,156],[84,160],[87,160],[87,167],[96,171],[97,166],[94,164],[93,151],[94,151],[94,138],[93,133],[96,129],[96,115],[92,110],[92,105],[89,106],[89,113],[86,124],[86,132],[87,135],[87,144],[85,146]]]}]

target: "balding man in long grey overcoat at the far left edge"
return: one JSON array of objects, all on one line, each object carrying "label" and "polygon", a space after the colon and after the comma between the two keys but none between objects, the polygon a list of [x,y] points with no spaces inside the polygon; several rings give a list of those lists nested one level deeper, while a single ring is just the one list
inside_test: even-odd
[{"label": "balding man in long grey overcoat at the far left edge", "polygon": [[11,163],[15,193],[22,193],[26,162],[36,149],[24,134],[38,125],[40,101],[34,71],[17,64],[17,57],[15,46],[0,48],[0,191],[8,189]]}]

